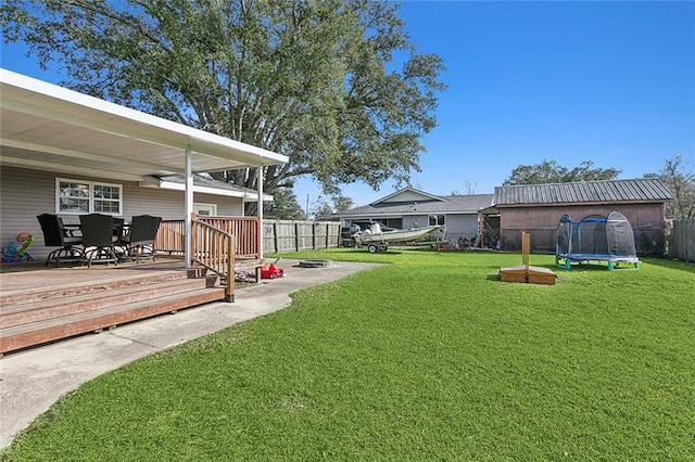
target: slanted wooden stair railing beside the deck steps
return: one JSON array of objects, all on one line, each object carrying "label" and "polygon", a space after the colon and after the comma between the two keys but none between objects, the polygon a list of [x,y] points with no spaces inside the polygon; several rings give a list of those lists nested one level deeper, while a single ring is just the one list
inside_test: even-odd
[{"label": "slanted wooden stair railing beside the deck steps", "polygon": [[225,299],[235,299],[235,236],[193,218],[191,223],[191,259],[213,271],[225,282]]}]

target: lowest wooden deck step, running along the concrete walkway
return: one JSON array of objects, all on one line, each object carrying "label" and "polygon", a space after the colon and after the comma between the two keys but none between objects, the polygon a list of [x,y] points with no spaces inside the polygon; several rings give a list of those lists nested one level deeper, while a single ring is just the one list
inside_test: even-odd
[{"label": "lowest wooden deck step, running along the concrete walkway", "polygon": [[91,311],[0,329],[0,354],[87,332],[97,332],[104,328],[113,328],[126,322],[173,312],[210,301],[222,300],[224,297],[224,288],[198,288],[186,293],[169,294],[125,305],[108,306]]}]

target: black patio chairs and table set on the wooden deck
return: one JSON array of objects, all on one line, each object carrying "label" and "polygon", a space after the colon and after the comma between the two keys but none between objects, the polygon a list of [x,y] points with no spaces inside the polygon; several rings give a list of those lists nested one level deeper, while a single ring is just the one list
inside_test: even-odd
[{"label": "black patio chairs and table set on the wooden deck", "polygon": [[104,214],[79,216],[79,224],[66,224],[58,215],[36,217],[48,247],[59,247],[46,258],[46,266],[61,262],[113,262],[155,259],[154,240],[161,217],[134,216],[129,223],[124,218]]}]

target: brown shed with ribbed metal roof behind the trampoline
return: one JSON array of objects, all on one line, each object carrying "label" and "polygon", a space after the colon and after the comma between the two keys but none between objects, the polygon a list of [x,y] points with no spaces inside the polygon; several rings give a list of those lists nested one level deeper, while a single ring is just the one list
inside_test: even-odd
[{"label": "brown shed with ribbed metal roof behind the trampoline", "polygon": [[495,188],[502,248],[521,248],[521,232],[531,234],[531,247],[555,252],[556,229],[564,214],[579,221],[589,215],[624,215],[634,232],[637,254],[664,253],[664,218],[671,192],[657,179],[584,181]]}]

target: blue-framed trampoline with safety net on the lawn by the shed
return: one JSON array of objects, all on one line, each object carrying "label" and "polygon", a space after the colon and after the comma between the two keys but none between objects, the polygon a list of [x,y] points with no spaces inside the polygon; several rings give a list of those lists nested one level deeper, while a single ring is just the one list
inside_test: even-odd
[{"label": "blue-framed trampoline with safety net on the lawn by the shed", "polygon": [[580,221],[563,215],[557,224],[555,265],[571,269],[572,264],[603,261],[608,264],[609,271],[620,264],[640,268],[630,221],[619,211],[611,211],[608,217],[590,215]]}]

